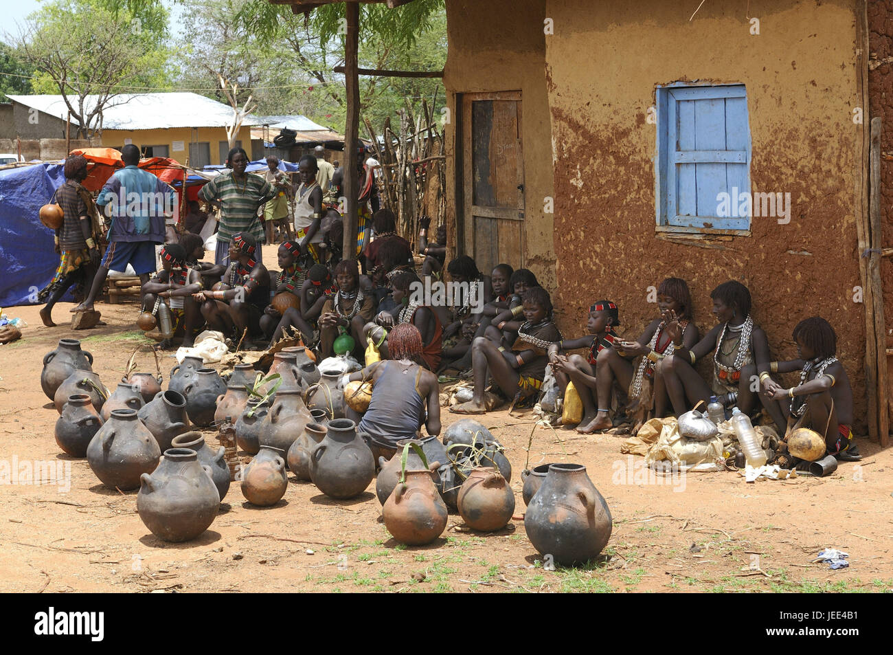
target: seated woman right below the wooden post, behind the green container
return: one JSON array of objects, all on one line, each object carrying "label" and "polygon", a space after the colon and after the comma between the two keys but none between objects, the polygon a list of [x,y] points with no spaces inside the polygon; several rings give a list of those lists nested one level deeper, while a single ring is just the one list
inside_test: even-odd
[{"label": "seated woman right below the wooden post, behind the green container", "polygon": [[343,259],[335,267],[338,293],[327,298],[320,316],[320,356],[334,355],[332,344],[342,330],[354,338],[355,348],[366,349],[363,326],[375,313],[375,298],[360,285],[360,270],[354,259]]}]

